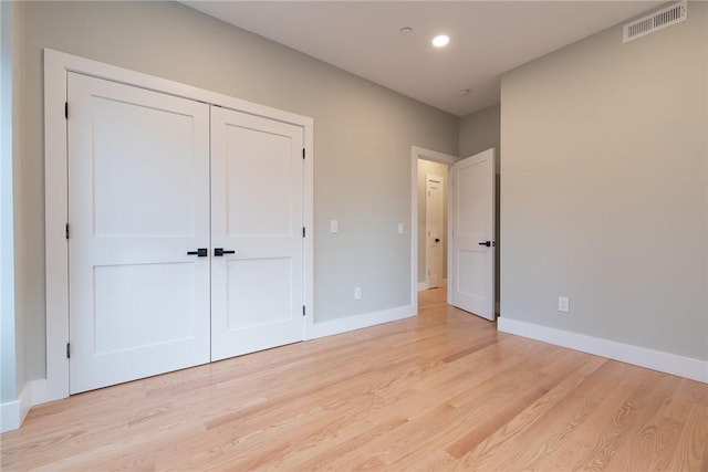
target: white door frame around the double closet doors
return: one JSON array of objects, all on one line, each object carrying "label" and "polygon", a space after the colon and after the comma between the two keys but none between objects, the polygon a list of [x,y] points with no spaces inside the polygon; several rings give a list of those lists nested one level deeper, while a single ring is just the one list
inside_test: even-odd
[{"label": "white door frame around the double closet doors", "polygon": [[[219,105],[257,116],[302,126],[304,129],[305,176],[304,221],[304,300],[306,310],[304,338],[314,324],[313,310],[313,126],[312,118],[258,105],[228,95],[192,87],[84,57],[44,50],[44,190],[45,190],[45,268],[46,268],[46,379],[32,388],[32,405],[69,397],[69,248],[65,238],[69,182],[66,180],[66,74],[76,72],[158,91],[162,93]],[[69,109],[71,119],[71,109]]]}]

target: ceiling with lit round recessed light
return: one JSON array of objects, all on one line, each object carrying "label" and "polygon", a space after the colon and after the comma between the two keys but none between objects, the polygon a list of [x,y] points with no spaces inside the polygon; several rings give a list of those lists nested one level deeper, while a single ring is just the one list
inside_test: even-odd
[{"label": "ceiling with lit round recessed light", "polygon": [[[499,103],[502,73],[662,1],[183,1],[464,116]],[[408,34],[400,33],[410,28]],[[436,49],[436,34],[450,43]],[[617,41],[622,41],[618,35]],[[457,92],[469,90],[458,96]]]}]

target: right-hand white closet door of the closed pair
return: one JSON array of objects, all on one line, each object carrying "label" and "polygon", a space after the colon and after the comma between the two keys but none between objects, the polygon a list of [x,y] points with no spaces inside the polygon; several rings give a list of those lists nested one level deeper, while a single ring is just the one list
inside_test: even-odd
[{"label": "right-hand white closet door of the closed pair", "polygon": [[303,338],[302,149],[302,127],[211,108],[212,360]]}]

